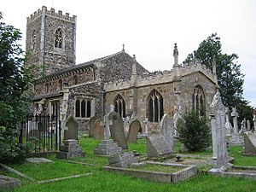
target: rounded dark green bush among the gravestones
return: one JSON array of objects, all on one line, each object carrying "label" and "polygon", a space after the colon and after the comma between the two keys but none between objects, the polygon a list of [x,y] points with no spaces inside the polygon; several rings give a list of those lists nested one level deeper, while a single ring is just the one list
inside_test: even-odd
[{"label": "rounded dark green bush among the gravestones", "polygon": [[183,120],[177,122],[179,141],[189,151],[201,151],[211,144],[211,130],[205,117],[199,117],[194,111],[186,113]]}]

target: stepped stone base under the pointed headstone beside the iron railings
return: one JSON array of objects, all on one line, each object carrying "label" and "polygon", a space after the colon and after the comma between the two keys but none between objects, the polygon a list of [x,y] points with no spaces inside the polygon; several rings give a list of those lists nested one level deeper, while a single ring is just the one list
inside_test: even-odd
[{"label": "stepped stone base under the pointed headstone beside the iron railings", "polygon": [[84,157],[84,151],[79,146],[78,140],[64,140],[61,144],[60,152],[57,153],[57,158],[69,159],[71,157]]}]

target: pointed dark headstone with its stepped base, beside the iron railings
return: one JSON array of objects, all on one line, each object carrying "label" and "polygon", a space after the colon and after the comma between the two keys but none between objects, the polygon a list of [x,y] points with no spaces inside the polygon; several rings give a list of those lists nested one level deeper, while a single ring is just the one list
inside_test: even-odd
[{"label": "pointed dark headstone with its stepped base, beside the iron railings", "polygon": [[67,130],[64,131],[64,141],[60,146],[57,158],[69,159],[70,157],[84,157],[84,151],[78,143],[78,122],[70,115],[67,119]]}]

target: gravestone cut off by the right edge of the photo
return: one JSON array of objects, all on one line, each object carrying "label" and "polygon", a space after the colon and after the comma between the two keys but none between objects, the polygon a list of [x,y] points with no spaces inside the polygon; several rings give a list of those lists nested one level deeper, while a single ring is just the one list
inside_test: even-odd
[{"label": "gravestone cut off by the right edge of the photo", "polygon": [[244,133],[244,152],[246,155],[256,155],[256,132],[247,131]]}]

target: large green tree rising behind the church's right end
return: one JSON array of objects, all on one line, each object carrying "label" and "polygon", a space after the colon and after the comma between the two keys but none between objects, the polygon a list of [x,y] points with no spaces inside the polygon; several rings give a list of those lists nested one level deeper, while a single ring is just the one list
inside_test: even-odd
[{"label": "large green tree rising behind the church's right end", "polygon": [[222,54],[222,44],[217,33],[212,34],[206,40],[202,41],[199,48],[189,54],[184,62],[190,63],[198,59],[202,64],[212,69],[212,63],[216,62],[216,73],[218,77],[219,92],[222,101],[226,107],[230,109],[237,107],[237,111],[241,118],[245,115],[252,119],[252,114],[248,116],[248,112],[244,113],[242,110],[252,111],[252,107],[243,99],[243,77],[241,73],[241,65],[237,63],[238,55],[235,53],[228,55]]}]

